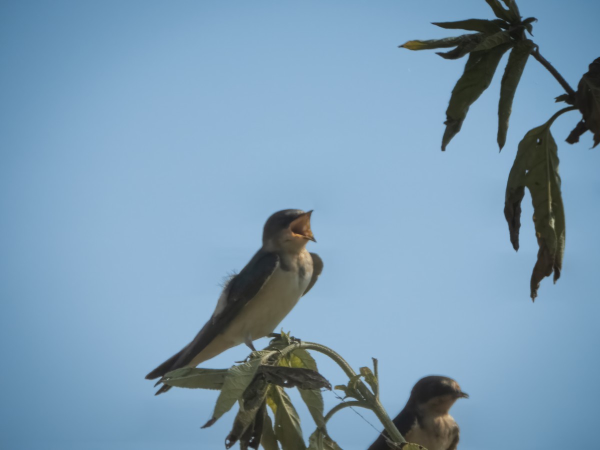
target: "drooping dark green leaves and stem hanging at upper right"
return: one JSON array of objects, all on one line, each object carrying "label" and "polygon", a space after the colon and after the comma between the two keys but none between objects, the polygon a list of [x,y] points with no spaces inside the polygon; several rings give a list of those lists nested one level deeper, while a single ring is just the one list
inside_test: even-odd
[{"label": "drooping dark green leaves and stem hanging at upper right", "polygon": [[565,88],[566,93],[556,101],[574,105],[556,113],[548,122],[533,128],[518,145],[511,173],[508,177],[505,197],[505,218],[508,222],[512,245],[518,250],[521,200],[527,188],[532,196],[533,221],[538,239],[538,259],[533,268],[530,295],[538,295],[539,283],[554,273],[554,282],[560,277],[565,249],[565,211],[560,193],[559,158],[556,142],[550,126],[562,113],[579,109],[583,118],[566,139],[578,142],[585,131],[594,136],[594,146],[600,143],[600,58],[590,64],[583,75],[577,92],[540,54],[538,46],[526,33],[533,36],[535,17],[522,19],[514,0],[485,0],[496,19],[467,19],[457,22],[433,22],[445,29],[473,31],[458,37],[439,40],[408,41],[400,47],[409,50],[425,50],[454,47],[446,52],[437,52],[445,59],[458,59],[469,55],[463,74],[458,79],[446,109],[446,129],[442,138],[442,151],[460,131],[469,107],[490,86],[502,56],[510,50],[508,62],[500,82],[498,103],[497,143],[500,150],[506,143],[512,101],[521,80],[521,75],[530,55],[533,55]]}]

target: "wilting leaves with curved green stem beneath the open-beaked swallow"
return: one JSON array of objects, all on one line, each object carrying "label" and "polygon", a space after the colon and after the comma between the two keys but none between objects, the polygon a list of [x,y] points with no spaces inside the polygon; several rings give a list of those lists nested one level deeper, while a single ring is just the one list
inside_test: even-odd
[{"label": "wilting leaves with curved green stem beneath the open-beaked swallow", "polygon": [[[324,413],[321,391],[331,390],[331,384],[317,371],[317,364],[308,349],[324,353],[343,368],[349,382],[335,386],[335,389],[342,389],[346,398],[357,400],[342,400]],[[181,388],[220,390],[211,419],[202,428],[210,427],[235,403],[239,404],[232,430],[225,440],[226,448],[239,442],[242,450],[257,449],[259,445],[265,450],[340,450],[329,436],[326,423],[339,410],[352,406],[373,410],[382,420],[391,442],[402,443],[403,437],[379,402],[377,362],[373,361],[374,371],[361,367],[356,374],[328,347],[302,343],[281,333],[264,350],[252,352],[244,362],[229,369],[182,368],[167,373],[163,382]],[[308,447],[298,412],[286,392],[289,388],[298,389],[316,425],[308,438]]]}]

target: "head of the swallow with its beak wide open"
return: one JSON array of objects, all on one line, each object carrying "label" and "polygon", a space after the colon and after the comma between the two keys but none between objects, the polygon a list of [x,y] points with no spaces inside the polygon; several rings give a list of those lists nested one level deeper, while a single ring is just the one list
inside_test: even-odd
[{"label": "head of the swallow with its beak wide open", "polygon": [[316,242],[310,229],[313,211],[284,209],[271,215],[263,230],[263,247],[269,250],[297,250],[308,241]]}]

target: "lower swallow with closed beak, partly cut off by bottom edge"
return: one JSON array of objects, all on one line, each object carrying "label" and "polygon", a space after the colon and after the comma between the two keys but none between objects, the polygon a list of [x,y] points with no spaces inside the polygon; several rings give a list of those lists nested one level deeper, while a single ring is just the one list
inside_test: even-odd
[{"label": "lower swallow with closed beak, partly cut off by bottom edge", "polygon": [[[439,375],[422,378],[410,392],[409,401],[394,419],[394,425],[404,439],[427,450],[456,450],[460,430],[448,411],[458,398],[469,395],[453,379]],[[379,436],[368,450],[387,449],[386,438]]]}]

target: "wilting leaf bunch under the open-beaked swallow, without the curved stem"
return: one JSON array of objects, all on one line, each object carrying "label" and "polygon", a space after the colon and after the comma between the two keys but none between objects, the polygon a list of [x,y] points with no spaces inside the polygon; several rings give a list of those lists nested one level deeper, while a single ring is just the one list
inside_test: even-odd
[{"label": "wilting leaf bunch under the open-beaked swallow, without the curved stem", "polygon": [[[252,352],[247,360],[229,369],[182,368],[166,375],[164,383],[181,388],[219,389],[211,419],[202,428],[210,427],[235,403],[238,413],[225,445],[231,448],[239,442],[241,449],[305,450],[300,419],[285,391],[297,388],[313,416],[320,434],[311,436],[317,449],[337,448],[325,430],[321,389],[331,385],[317,372],[317,365],[307,350],[289,349],[293,338],[288,334],[271,341],[265,350]],[[273,418],[268,413],[271,410]]]}]

